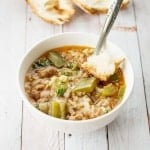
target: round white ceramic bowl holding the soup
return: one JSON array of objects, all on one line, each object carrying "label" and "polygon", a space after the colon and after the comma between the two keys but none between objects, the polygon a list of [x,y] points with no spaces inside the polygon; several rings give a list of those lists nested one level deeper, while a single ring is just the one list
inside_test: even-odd
[{"label": "round white ceramic bowl holding the soup", "polygon": [[50,128],[55,130],[60,130],[63,132],[70,132],[70,133],[73,132],[81,133],[81,132],[94,131],[104,127],[105,125],[109,124],[112,120],[114,120],[116,116],[120,113],[122,107],[124,106],[125,102],[127,101],[132,91],[134,75],[133,75],[131,63],[126,57],[126,55],[124,54],[124,52],[116,45],[112,44],[111,42],[108,42],[108,45],[112,49],[114,49],[116,53],[118,52],[122,53],[126,58],[125,66],[123,69],[125,82],[126,82],[125,95],[121,103],[118,106],[116,106],[116,108],[113,109],[111,112],[94,119],[83,120],[83,121],[57,119],[48,116],[42,113],[41,111],[37,110],[36,108],[34,108],[29,102],[25,94],[25,90],[24,90],[25,74],[29,66],[32,64],[32,62],[36,58],[38,58],[41,54],[45,53],[50,49],[66,46],[66,45],[83,45],[83,46],[95,47],[97,40],[98,40],[98,36],[96,35],[85,34],[85,33],[63,33],[63,34],[58,34],[49,37],[43,41],[40,41],[27,51],[26,55],[23,57],[21,64],[19,66],[19,72],[18,72],[19,91],[25,104],[28,106],[29,111],[38,121],[48,125]]}]

